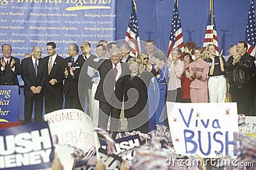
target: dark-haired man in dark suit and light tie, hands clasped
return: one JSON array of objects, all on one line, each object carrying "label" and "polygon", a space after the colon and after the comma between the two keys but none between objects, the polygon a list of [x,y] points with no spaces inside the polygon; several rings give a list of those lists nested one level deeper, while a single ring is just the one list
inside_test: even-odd
[{"label": "dark-haired man in dark suit and light tie, hands clasped", "polygon": [[45,67],[48,69],[45,80],[44,104],[45,113],[61,110],[63,106],[63,61],[56,53],[56,44],[46,45],[48,56],[44,57]]}]

